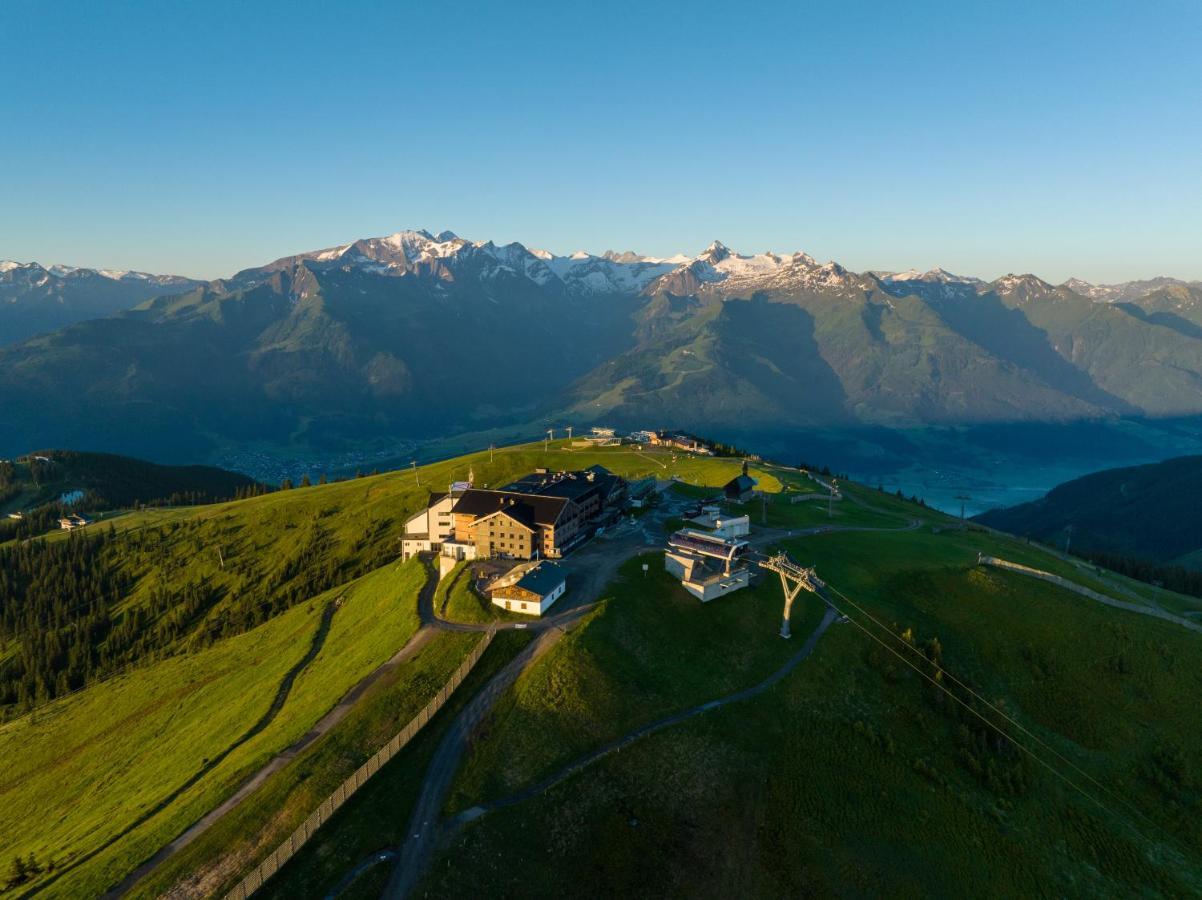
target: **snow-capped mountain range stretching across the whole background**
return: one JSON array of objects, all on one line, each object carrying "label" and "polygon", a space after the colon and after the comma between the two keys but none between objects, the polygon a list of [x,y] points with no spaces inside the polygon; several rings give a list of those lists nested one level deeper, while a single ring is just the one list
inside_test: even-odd
[{"label": "snow-capped mountain range stretching across the whole background", "polygon": [[[4,284],[30,286],[5,305],[119,305],[115,288],[144,302],[0,348],[0,453],[200,460],[535,422],[713,431],[1202,412],[1202,285],[1172,279],[856,273],[719,242],[695,257],[557,256],[426,231],[207,284],[4,266]],[[70,304],[54,299],[69,290]]]}]

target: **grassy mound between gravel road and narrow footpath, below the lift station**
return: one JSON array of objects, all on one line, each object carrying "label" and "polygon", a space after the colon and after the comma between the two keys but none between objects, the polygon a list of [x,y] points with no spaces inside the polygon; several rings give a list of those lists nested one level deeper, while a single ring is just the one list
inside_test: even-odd
[{"label": "grassy mound between gravel road and narrow footpath, below the lift station", "polygon": [[[601,608],[523,673],[483,723],[450,809],[499,799],[638,725],[761,680],[797,649],[776,634],[781,607],[767,578],[702,604],[659,554],[630,560]],[[819,604],[798,603],[795,627],[808,631],[819,615]]]}]

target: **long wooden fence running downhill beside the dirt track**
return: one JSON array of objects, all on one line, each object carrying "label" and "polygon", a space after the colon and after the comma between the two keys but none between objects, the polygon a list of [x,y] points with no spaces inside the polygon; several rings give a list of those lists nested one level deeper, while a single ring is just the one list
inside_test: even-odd
[{"label": "long wooden fence running downhill beside the dirt track", "polygon": [[334,793],[325,799],[325,801],[315,809],[300,827],[297,828],[287,840],[280,844],[267,859],[255,866],[245,878],[243,878],[234,888],[231,890],[226,898],[227,900],[245,900],[248,896],[254,894],[258,888],[261,888],[268,878],[270,878],[275,872],[284,868],[296,853],[305,845],[305,842],[316,834],[317,829],[321,828],[329,818],[339,810],[339,807],[346,803],[356,791],[358,791],[363,785],[375,775],[383,765],[392,759],[401,749],[413,739],[422,727],[429,722],[434,715],[442,709],[454,690],[463,684],[464,679],[468,678],[469,673],[475,668],[476,663],[480,662],[480,657],[484,655],[484,650],[493,640],[495,630],[489,628],[484,632],[484,639],[481,640],[472,651],[468,655],[468,658],[459,663],[459,668],[454,670],[451,679],[442,685],[441,690],[427,703],[421,711],[413,716],[409,725],[400,729],[400,733],[393,737],[387,744],[380,747],[376,753],[368,759],[363,765],[355,770],[355,773],[346,779],[341,785],[335,788]]}]

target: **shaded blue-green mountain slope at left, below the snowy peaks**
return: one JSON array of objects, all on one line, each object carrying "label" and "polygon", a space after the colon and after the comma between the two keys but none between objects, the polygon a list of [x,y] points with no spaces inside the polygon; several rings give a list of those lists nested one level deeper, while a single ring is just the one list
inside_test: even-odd
[{"label": "shaded blue-green mountain slope at left, below the snowy peaks", "polygon": [[512,422],[615,352],[632,308],[516,274],[481,290],[298,264],[0,351],[0,447],[200,459],[230,442],[331,448]]}]

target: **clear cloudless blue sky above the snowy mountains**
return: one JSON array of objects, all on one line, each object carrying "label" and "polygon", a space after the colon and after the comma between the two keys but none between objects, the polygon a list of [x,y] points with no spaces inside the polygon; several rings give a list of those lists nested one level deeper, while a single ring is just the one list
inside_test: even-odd
[{"label": "clear cloudless blue sky above the snowy mountains", "polygon": [[1202,279],[1202,2],[0,2],[0,258],[400,228]]}]

